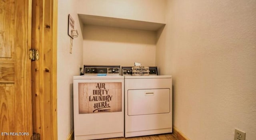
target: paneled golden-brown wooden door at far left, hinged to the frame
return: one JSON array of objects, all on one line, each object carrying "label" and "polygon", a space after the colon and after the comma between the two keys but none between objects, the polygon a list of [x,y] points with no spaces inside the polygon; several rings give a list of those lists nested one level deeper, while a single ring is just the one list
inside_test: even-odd
[{"label": "paneled golden-brown wooden door at far left, hinged to the frame", "polygon": [[31,0],[0,1],[0,140],[30,140]]}]

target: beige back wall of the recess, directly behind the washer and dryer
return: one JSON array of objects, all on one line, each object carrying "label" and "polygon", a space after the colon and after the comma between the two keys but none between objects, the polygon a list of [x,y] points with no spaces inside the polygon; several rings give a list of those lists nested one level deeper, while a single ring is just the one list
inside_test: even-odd
[{"label": "beige back wall of the recess, directly behind the washer and dryer", "polygon": [[84,26],[84,65],[155,66],[156,32]]}]

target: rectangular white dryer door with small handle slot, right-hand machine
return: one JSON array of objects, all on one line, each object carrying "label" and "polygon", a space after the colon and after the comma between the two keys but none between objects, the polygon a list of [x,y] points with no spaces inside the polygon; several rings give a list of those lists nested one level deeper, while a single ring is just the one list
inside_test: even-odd
[{"label": "rectangular white dryer door with small handle slot, right-hand machine", "polygon": [[170,89],[128,90],[128,116],[170,112]]}]

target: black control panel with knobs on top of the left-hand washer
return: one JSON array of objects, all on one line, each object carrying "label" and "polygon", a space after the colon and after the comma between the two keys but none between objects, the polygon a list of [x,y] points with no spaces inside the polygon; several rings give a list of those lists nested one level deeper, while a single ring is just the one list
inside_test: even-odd
[{"label": "black control panel with knobs on top of the left-hand washer", "polygon": [[120,75],[120,66],[113,65],[84,65],[84,75]]}]

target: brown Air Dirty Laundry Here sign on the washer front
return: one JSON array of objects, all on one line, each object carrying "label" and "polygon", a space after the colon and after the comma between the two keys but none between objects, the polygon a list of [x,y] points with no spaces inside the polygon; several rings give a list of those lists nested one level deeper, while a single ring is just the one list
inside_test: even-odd
[{"label": "brown Air Dirty Laundry Here sign on the washer front", "polygon": [[79,114],[122,111],[122,83],[78,83]]}]

